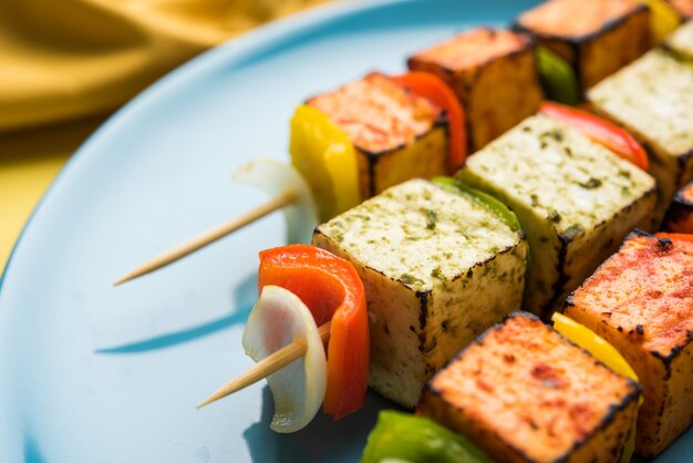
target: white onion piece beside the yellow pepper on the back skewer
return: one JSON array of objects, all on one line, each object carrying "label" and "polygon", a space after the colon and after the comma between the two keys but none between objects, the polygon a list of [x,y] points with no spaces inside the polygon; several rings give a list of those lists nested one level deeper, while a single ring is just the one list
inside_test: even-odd
[{"label": "white onion piece beside the yellow pepper on the back skewer", "polygon": [[293,166],[276,160],[254,160],[240,166],[232,179],[255,186],[271,197],[293,189],[298,195],[297,200],[283,208],[287,241],[310,243],[318,225],[318,206],[310,187]]}]

